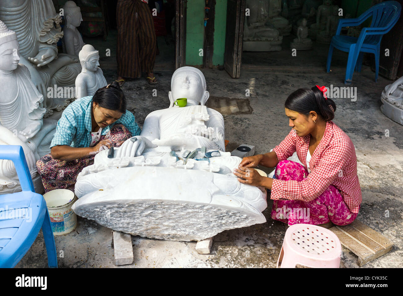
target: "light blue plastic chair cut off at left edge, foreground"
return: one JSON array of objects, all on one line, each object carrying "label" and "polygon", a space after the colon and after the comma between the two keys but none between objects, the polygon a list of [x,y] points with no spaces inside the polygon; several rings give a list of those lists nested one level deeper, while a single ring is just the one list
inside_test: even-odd
[{"label": "light blue plastic chair cut off at left edge, foreground", "polygon": [[42,227],[48,266],[57,268],[56,245],[46,201],[35,193],[21,146],[0,145],[0,159],[13,161],[21,192],[0,195],[0,268],[15,267]]}]

